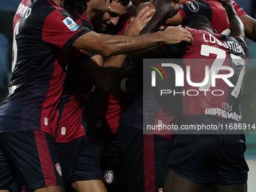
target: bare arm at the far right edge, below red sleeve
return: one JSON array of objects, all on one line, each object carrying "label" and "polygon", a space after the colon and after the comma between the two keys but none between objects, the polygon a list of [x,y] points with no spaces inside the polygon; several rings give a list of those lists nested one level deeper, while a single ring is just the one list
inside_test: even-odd
[{"label": "bare arm at the far right edge, below red sleeve", "polygon": [[248,14],[243,14],[239,18],[242,20],[245,28],[245,37],[256,42],[256,20],[248,16]]}]

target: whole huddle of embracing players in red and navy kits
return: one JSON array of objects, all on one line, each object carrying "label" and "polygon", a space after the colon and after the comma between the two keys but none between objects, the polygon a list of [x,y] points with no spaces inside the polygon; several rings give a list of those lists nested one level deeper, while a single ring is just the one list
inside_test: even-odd
[{"label": "whole huddle of embracing players in red and navy kits", "polygon": [[[242,131],[143,129],[239,123],[256,20],[236,2],[23,0],[13,27],[0,192],[247,191]],[[169,86],[197,96],[143,91],[145,58],[184,59],[190,82]]]}]

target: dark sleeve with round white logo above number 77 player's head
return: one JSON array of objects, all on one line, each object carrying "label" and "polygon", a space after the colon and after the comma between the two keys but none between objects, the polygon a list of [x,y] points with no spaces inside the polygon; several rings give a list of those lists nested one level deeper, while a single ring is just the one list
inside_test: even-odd
[{"label": "dark sleeve with round white logo above number 77 player's head", "polygon": [[182,20],[184,20],[185,17],[194,14],[202,14],[210,21],[212,20],[212,9],[209,4],[203,1],[186,2],[185,4],[181,5],[178,12],[181,14]]}]

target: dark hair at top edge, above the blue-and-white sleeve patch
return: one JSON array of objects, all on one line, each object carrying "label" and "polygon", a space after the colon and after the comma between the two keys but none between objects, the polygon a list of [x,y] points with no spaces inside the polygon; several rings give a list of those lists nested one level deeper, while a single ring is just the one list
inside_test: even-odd
[{"label": "dark hair at top edge, above the blue-and-white sleeve patch", "polygon": [[83,14],[87,11],[87,0],[62,0],[62,8],[66,11],[78,11],[78,14]]}]

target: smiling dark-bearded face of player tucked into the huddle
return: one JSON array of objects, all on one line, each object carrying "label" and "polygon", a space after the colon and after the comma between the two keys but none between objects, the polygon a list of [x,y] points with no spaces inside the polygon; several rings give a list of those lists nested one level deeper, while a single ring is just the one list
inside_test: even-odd
[{"label": "smiling dark-bearded face of player tucked into the huddle", "polygon": [[113,0],[111,1],[111,10],[103,15],[97,15],[93,18],[92,23],[97,32],[104,32],[108,26],[115,26],[122,14],[126,13],[127,5],[130,0]]}]

